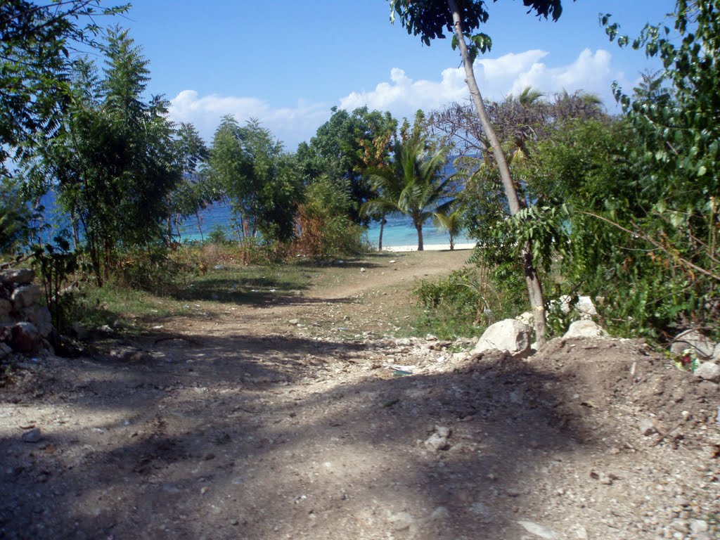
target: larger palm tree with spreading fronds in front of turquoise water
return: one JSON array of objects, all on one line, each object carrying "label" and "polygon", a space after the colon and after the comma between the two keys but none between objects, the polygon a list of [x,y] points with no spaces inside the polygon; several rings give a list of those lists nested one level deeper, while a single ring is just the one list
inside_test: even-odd
[{"label": "larger palm tree with spreading fronds in front of turquoise water", "polygon": [[446,212],[452,204],[444,200],[449,195],[450,179],[441,174],[448,153],[449,148],[444,147],[429,154],[421,136],[398,140],[390,166],[368,171],[379,197],[365,202],[361,212],[409,216],[418,231],[418,251],[423,251],[423,223],[433,212]]}]

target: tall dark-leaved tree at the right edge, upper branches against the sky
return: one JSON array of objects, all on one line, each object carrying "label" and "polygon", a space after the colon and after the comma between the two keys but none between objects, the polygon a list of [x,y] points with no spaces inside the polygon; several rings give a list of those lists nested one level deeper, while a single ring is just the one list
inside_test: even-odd
[{"label": "tall dark-leaved tree at the right edge, upper branches against the sky", "polygon": [[601,17],[611,40],[659,58],[662,70],[634,95],[615,87],[632,132],[619,153],[636,190],[595,219],[624,237],[620,275],[636,282],[635,303],[656,330],[717,333],[720,1],[678,0],[668,22],[647,24],[634,39],[609,19]]}]

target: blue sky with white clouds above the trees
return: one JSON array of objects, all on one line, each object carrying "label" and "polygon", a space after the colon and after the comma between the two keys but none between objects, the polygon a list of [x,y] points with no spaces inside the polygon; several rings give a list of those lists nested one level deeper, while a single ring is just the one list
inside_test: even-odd
[{"label": "blue sky with white clouds above the trees", "polygon": [[[630,88],[657,64],[620,50],[598,24],[613,14],[635,35],[661,22],[674,0],[564,1],[559,22],[526,14],[519,0],[490,3],[484,31],[492,51],[475,72],[489,99],[528,84],[551,93],[584,89],[614,112],[610,85]],[[135,0],[114,22],[130,28],[150,60],[153,94],[171,100],[173,120],[212,139],[223,114],[256,117],[294,150],[333,106],[411,117],[467,100],[459,55],[449,40],[423,46],[396,22],[386,0]]]}]

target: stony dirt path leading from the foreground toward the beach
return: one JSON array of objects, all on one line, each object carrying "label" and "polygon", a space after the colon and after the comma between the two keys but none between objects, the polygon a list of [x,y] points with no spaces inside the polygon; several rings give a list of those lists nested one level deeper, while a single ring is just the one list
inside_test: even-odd
[{"label": "stony dirt path leading from the foreground toward the beach", "polygon": [[631,341],[390,337],[467,255],[338,263],[124,356],[28,361],[0,389],[0,538],[720,538],[718,384]]}]

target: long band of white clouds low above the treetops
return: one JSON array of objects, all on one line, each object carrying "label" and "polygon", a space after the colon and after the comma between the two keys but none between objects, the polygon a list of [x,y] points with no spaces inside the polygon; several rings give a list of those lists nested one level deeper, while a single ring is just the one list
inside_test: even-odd
[{"label": "long band of white clouds low above the treetops", "polygon": [[[533,86],[546,94],[582,89],[598,94],[611,110],[614,100],[611,84],[619,81],[625,88],[632,86],[624,73],[612,66],[612,56],[606,50],[583,50],[577,59],[566,66],[549,66],[550,53],[527,50],[499,58],[480,58],[475,61],[475,75],[487,99],[503,99],[518,94],[526,86]],[[462,68],[447,68],[437,80],[410,78],[400,69],[390,71],[390,80],[377,84],[370,91],[354,91],[338,99],[343,109],[352,110],[366,105],[370,109],[387,110],[395,117],[413,117],[417,109],[430,111],[452,102],[464,102],[469,94]],[[310,140],[315,130],[330,117],[329,103],[300,101],[296,107],[275,108],[255,97],[199,96],[197,91],[184,90],[171,99],[170,114],[178,122],[192,122],[206,140],[225,114],[233,114],[238,122],[251,117],[261,120],[274,135],[294,150],[297,143]]]}]

